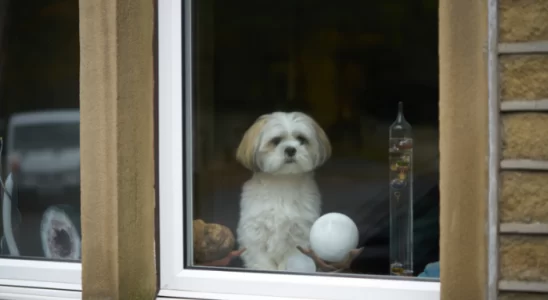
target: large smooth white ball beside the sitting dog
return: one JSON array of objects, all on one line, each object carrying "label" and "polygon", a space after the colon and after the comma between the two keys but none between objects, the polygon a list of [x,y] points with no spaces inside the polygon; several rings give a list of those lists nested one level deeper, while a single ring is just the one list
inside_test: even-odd
[{"label": "large smooth white ball beside the sitting dog", "polygon": [[316,220],[310,230],[310,247],[319,258],[340,262],[358,246],[358,226],[346,215],[328,213]]}]

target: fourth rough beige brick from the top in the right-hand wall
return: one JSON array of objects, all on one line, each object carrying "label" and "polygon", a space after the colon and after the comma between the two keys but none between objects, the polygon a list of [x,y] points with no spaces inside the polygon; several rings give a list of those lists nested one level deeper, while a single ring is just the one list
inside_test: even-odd
[{"label": "fourth rough beige brick from the top in the right-hand wall", "polygon": [[503,172],[500,221],[548,223],[548,172]]}]

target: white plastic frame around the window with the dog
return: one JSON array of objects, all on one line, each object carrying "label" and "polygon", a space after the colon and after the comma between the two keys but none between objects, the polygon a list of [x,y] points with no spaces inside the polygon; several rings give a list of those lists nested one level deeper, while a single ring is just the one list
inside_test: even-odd
[{"label": "white plastic frame around the window with the dog", "polygon": [[[187,225],[192,218],[192,147],[183,146],[192,145],[191,5],[191,0],[158,1],[158,296],[212,300],[438,300],[438,281],[185,268],[184,258],[192,255],[184,238],[185,231],[192,236],[191,226]],[[184,201],[190,201],[186,213]]]}]

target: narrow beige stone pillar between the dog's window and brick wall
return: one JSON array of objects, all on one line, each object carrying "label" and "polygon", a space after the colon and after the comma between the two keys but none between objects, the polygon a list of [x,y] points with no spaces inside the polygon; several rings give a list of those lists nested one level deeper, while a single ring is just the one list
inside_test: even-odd
[{"label": "narrow beige stone pillar between the dog's window and brick wall", "polygon": [[486,295],[488,94],[486,56],[481,50],[487,41],[486,13],[487,5],[481,1],[439,1],[443,300]]}]

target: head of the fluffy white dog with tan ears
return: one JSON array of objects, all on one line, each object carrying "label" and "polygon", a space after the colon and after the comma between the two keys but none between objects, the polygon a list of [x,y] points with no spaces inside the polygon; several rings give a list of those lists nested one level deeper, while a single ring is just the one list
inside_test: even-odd
[{"label": "head of the fluffy white dog with tan ears", "polygon": [[246,131],[236,159],[254,172],[297,174],[314,170],[331,156],[323,129],[301,112],[260,116]]}]

